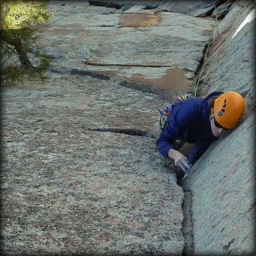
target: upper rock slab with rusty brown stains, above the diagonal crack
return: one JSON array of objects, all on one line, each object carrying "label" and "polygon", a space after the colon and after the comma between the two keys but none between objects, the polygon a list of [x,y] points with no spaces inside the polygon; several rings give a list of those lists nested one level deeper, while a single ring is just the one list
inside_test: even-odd
[{"label": "upper rock slab with rusty brown stains, above the diagonal crack", "polygon": [[[193,79],[215,21],[191,15],[53,1],[54,26],[41,44],[52,70],[104,77],[172,101]],[[56,48],[58,44],[58,48]]]}]

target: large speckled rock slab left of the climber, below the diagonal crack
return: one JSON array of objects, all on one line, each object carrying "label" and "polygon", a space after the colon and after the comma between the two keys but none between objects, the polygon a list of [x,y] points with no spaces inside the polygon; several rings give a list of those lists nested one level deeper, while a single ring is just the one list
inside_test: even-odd
[{"label": "large speckled rock slab left of the climber, below the diagonal crack", "polygon": [[183,192],[155,141],[88,131],[147,129],[161,99],[49,76],[3,90],[2,252],[181,255]]}]

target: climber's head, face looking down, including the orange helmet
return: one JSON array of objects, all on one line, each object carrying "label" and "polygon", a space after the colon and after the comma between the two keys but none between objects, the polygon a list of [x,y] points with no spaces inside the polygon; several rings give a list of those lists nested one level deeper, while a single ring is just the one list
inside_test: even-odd
[{"label": "climber's head, face looking down, including the orange helmet", "polygon": [[214,99],[211,108],[212,134],[219,137],[225,130],[234,129],[243,116],[245,102],[236,92],[226,92]]}]

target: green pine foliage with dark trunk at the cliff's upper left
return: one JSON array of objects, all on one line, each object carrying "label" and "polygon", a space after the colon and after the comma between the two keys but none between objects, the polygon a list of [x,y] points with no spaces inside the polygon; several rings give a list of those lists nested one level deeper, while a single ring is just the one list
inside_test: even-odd
[{"label": "green pine foliage with dark trunk at the cliff's upper left", "polygon": [[[24,77],[44,79],[49,58],[35,49],[40,28],[51,23],[46,1],[1,1],[1,75],[4,85]],[[20,65],[19,65],[20,63]]]}]

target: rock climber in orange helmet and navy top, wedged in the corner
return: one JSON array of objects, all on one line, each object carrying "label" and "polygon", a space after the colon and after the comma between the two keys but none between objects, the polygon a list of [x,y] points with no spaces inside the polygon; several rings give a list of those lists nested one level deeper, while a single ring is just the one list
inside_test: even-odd
[{"label": "rock climber in orange helmet and navy top, wedged in the corner", "polygon": [[[158,139],[156,144],[159,152],[173,159],[175,166],[179,166],[187,175],[212,141],[224,131],[236,127],[244,109],[244,99],[236,92],[212,92],[205,98],[183,95],[161,111],[161,118],[151,133]],[[195,143],[188,156],[175,148],[177,140]]]}]

